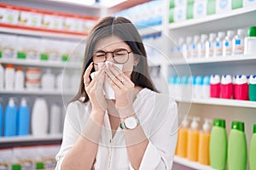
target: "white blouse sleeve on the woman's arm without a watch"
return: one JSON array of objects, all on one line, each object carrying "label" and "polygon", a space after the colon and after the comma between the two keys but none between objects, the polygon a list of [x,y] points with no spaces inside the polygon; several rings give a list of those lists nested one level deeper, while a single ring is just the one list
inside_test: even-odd
[{"label": "white blouse sleeve on the woman's arm without a watch", "polygon": [[[55,156],[57,165],[55,170],[61,170],[61,163],[66,156],[68,150],[70,150],[75,144],[76,140],[79,138],[79,123],[75,123],[78,116],[79,108],[78,105],[71,103],[67,106],[64,128],[63,128],[63,137],[61,149],[58,154]],[[71,118],[73,117],[73,118]]]}]

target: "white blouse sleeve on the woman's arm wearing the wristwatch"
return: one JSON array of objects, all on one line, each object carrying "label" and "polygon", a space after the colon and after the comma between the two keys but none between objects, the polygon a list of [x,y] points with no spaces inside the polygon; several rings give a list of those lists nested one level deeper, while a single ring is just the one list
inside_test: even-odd
[{"label": "white blouse sleeve on the woman's arm wearing the wristwatch", "polygon": [[[177,104],[168,106],[165,122],[149,137],[140,170],[171,170],[177,143]],[[130,169],[133,170],[133,167]]]}]

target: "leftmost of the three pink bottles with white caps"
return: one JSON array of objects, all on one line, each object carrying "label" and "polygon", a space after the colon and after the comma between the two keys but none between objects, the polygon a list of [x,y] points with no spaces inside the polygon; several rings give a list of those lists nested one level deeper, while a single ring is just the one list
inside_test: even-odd
[{"label": "leftmost of the three pink bottles with white caps", "polygon": [[211,98],[219,98],[220,77],[218,75],[212,75],[210,78],[210,93],[211,93]]}]

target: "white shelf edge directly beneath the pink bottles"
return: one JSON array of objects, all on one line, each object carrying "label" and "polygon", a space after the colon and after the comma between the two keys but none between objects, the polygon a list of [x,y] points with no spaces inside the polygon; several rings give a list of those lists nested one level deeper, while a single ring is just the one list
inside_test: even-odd
[{"label": "white shelf edge directly beneath the pink bottles", "polygon": [[203,104],[203,105],[225,105],[233,107],[256,108],[256,101],[238,99],[176,99],[177,102]]}]

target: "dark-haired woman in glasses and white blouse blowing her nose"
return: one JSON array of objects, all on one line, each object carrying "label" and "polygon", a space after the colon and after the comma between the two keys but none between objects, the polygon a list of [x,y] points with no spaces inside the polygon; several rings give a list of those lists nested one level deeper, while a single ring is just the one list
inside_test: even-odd
[{"label": "dark-haired woman in glasses and white blouse blowing her nose", "polygon": [[172,169],[177,104],[156,92],[136,27],[106,17],[86,43],[79,93],[67,106],[55,169]]}]

